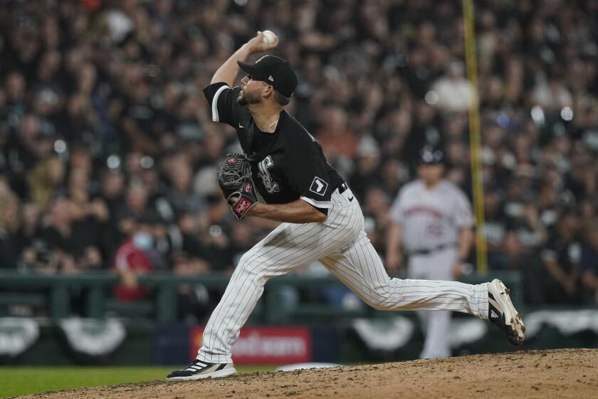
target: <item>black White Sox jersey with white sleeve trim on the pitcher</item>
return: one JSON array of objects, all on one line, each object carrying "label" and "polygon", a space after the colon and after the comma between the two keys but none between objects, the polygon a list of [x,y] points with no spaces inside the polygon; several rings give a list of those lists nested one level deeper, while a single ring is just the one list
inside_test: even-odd
[{"label": "black White Sox jersey with white sleeve trim on the pitcher", "polygon": [[251,113],[236,99],[241,88],[214,83],[204,89],[212,120],[236,129],[243,151],[251,158],[253,182],[267,204],[285,204],[295,199],[326,213],[330,195],[342,178],[328,162],[318,140],[285,110],[274,133],[263,133]]}]

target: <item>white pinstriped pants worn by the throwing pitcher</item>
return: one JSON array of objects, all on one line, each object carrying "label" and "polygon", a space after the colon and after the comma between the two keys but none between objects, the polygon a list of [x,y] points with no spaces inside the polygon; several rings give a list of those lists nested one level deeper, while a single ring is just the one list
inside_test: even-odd
[{"label": "white pinstriped pants worn by the throwing pitcher", "polygon": [[375,309],[449,310],[488,317],[486,283],[391,279],[364,232],[363,214],[351,190],[335,191],[331,202],[326,222],[280,224],[243,254],[206,325],[199,361],[232,363],[231,348],[266,281],[315,260]]}]

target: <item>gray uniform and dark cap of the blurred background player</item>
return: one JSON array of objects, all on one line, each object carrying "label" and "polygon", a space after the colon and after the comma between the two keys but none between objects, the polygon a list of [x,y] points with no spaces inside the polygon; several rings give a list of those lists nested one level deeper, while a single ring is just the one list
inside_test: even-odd
[{"label": "gray uniform and dark cap of the blurred background player", "polygon": [[[438,150],[436,155],[424,150],[421,156],[442,155]],[[434,187],[426,187],[421,179],[408,183],[397,195],[390,210],[390,219],[402,229],[402,244],[409,256],[409,279],[454,278],[453,269],[463,261],[458,248],[461,232],[468,229],[467,237],[471,237],[473,227],[471,205],[456,185],[444,179]],[[471,242],[470,238],[465,239]],[[469,247],[469,243],[465,245]],[[419,312],[419,316],[426,337],[420,358],[451,356],[448,333],[451,312]]]}]

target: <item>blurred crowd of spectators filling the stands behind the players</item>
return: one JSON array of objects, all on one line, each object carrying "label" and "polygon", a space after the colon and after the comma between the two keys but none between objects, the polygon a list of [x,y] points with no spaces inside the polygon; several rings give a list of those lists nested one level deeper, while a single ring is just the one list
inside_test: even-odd
[{"label": "blurred crowd of spectators filling the stands behind the players", "polygon": [[[491,271],[528,301],[598,292],[598,1],[476,1]],[[238,151],[201,89],[258,30],[290,103],[349,182],[384,255],[389,205],[426,144],[471,193],[463,19],[453,0],[38,0],[0,9],[0,267],[136,276],[234,268],[273,227],[235,222],[216,165]],[[531,285],[530,285],[531,284]]]}]

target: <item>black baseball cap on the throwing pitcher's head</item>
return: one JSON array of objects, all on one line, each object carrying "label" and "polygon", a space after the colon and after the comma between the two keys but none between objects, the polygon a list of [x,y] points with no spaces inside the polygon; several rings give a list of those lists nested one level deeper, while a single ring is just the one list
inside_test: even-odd
[{"label": "black baseball cap on the throwing pitcher's head", "polygon": [[268,55],[258,59],[256,63],[243,61],[237,61],[237,63],[241,70],[251,75],[251,78],[272,85],[274,90],[285,97],[290,97],[295,93],[297,76],[293,68],[290,68],[288,61],[283,58]]}]

